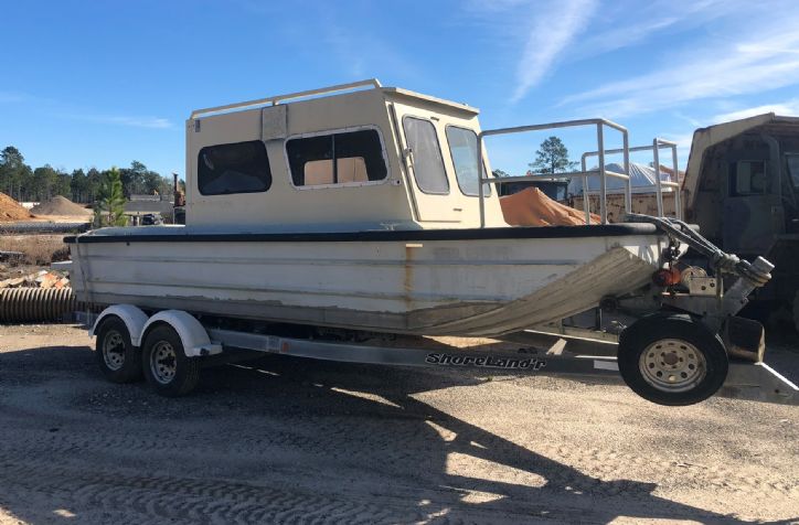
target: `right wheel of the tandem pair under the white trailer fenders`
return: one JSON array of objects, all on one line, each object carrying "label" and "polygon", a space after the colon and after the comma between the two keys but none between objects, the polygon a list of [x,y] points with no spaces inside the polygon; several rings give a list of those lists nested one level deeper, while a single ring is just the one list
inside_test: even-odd
[{"label": "right wheel of the tandem pair under the white trailer fenders", "polygon": [[147,382],[162,396],[189,394],[200,382],[200,363],[185,356],[180,335],[167,324],[155,326],[145,338],[141,363]]}]

